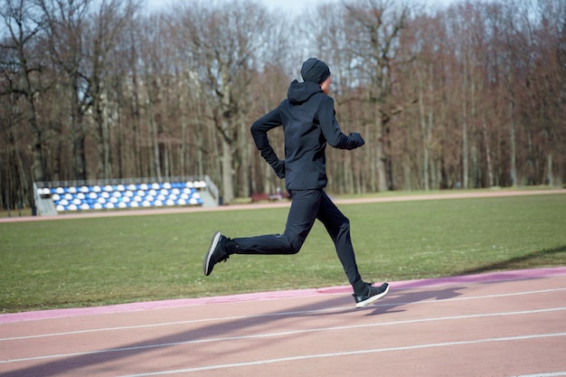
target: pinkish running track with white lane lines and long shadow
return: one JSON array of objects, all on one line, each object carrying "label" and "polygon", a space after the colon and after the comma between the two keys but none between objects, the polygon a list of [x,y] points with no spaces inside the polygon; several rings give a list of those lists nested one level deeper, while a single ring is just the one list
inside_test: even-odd
[{"label": "pinkish running track with white lane lines and long shadow", "polygon": [[0,316],[0,376],[566,376],[566,268]]}]

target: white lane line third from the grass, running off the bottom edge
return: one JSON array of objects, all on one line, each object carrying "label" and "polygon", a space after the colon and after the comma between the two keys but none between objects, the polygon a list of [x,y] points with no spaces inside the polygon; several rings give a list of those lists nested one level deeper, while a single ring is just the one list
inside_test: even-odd
[{"label": "white lane line third from the grass, running off the bottom edge", "polygon": [[500,337],[500,338],[486,338],[486,339],[474,339],[474,340],[459,341],[459,342],[407,345],[407,346],[402,346],[402,347],[376,348],[376,349],[373,349],[373,350],[349,351],[349,352],[341,352],[341,353],[318,353],[318,354],[315,353],[315,354],[307,354],[307,355],[300,355],[300,356],[281,357],[281,358],[278,358],[278,359],[258,360],[258,361],[247,362],[247,363],[228,363],[228,364],[218,364],[218,365],[207,365],[207,366],[201,366],[201,367],[196,367],[196,368],[178,369],[178,370],[175,370],[175,371],[161,371],[161,372],[147,372],[147,373],[140,373],[140,374],[129,374],[129,375],[121,376],[121,377],[146,377],[146,376],[160,376],[160,375],[174,374],[174,373],[203,372],[203,371],[210,371],[210,370],[215,370],[215,369],[229,369],[229,368],[237,368],[237,367],[243,367],[243,366],[265,365],[265,364],[269,364],[269,363],[297,362],[297,361],[301,361],[301,360],[323,359],[323,358],[329,358],[329,357],[342,357],[342,356],[351,356],[351,355],[357,355],[357,354],[384,353],[384,352],[394,352],[394,351],[410,351],[410,350],[419,350],[419,349],[423,349],[423,348],[450,347],[450,346],[454,346],[454,345],[464,345],[464,344],[484,344],[484,343],[493,343],[493,342],[514,342],[514,341],[522,341],[522,340],[530,340],[530,339],[552,338],[552,337],[558,337],[558,336],[566,336],[566,333],[523,335],[523,336],[505,336],[505,337]]}]

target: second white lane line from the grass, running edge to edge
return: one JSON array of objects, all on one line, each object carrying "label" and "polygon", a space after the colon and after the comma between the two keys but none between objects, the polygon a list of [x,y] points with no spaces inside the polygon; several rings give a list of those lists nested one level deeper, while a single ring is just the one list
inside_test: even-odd
[{"label": "second white lane line from the grass, running edge to edge", "polygon": [[537,310],[524,310],[524,311],[518,311],[518,312],[507,312],[507,313],[486,313],[486,314],[467,315],[467,316],[440,316],[440,317],[437,317],[437,318],[411,319],[411,320],[406,320],[406,321],[393,321],[393,322],[384,322],[384,323],[379,323],[379,324],[319,327],[319,328],[309,328],[309,329],[305,329],[305,330],[292,330],[292,331],[285,331],[285,332],[278,332],[278,333],[266,333],[266,334],[258,334],[258,335],[239,335],[239,336],[228,336],[228,337],[222,337],[222,338],[188,340],[188,341],[184,341],[184,342],[146,344],[146,345],[138,345],[138,346],[132,346],[132,347],[111,348],[111,349],[108,349],[108,350],[88,351],[88,352],[81,352],[81,353],[49,354],[49,355],[44,355],[44,356],[25,357],[25,358],[21,358],[21,359],[0,360],[0,364],[2,364],[2,363],[21,363],[21,362],[29,362],[29,361],[34,361],[34,360],[56,359],[56,358],[64,358],[64,357],[77,357],[77,356],[84,356],[84,355],[88,355],[88,354],[98,354],[98,353],[118,353],[118,352],[127,352],[127,351],[139,351],[139,350],[146,350],[146,349],[151,349],[151,348],[171,347],[171,346],[185,345],[185,344],[227,342],[227,341],[232,341],[232,340],[269,338],[269,337],[276,337],[276,336],[288,336],[288,335],[307,334],[307,333],[320,333],[320,332],[325,332],[325,331],[342,331],[342,330],[352,330],[352,329],[366,328],[366,327],[380,327],[380,326],[388,326],[388,325],[419,324],[419,323],[425,323],[425,322],[439,322],[439,321],[449,321],[449,320],[455,320],[455,319],[485,318],[485,317],[494,317],[494,316],[521,316],[521,315],[550,313],[550,312],[557,312],[557,311],[563,311],[563,310],[566,310],[566,306],[552,307],[552,308],[547,308],[547,309],[537,309]]}]

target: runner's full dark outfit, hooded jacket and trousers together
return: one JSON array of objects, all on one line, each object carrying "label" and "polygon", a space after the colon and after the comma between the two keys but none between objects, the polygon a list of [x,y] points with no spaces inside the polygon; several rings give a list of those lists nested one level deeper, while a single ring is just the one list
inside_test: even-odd
[{"label": "runner's full dark outfit, hooded jacket and trousers together", "polygon": [[[269,145],[268,132],[283,127],[285,159],[279,159]],[[363,146],[363,138],[344,135],[335,118],[334,99],[325,95],[312,81],[291,82],[288,99],[250,128],[261,156],[279,178],[286,179],[291,207],[283,234],[235,238],[238,254],[295,254],[311,231],[315,220],[325,225],[335,243],[338,259],[344,267],[354,293],[367,289],[358,272],[350,238],[350,221],[324,192],[326,177],[326,144],[340,149]]]}]

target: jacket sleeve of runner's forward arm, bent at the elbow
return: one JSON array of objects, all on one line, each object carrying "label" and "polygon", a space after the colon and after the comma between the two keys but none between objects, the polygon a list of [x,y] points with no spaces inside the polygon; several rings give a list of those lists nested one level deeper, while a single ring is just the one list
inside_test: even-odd
[{"label": "jacket sleeve of runner's forward arm, bent at the elbow", "polygon": [[330,146],[351,150],[363,146],[363,138],[357,134],[344,135],[335,117],[334,99],[325,96],[318,109],[318,121],[323,135]]}]

